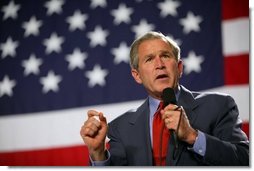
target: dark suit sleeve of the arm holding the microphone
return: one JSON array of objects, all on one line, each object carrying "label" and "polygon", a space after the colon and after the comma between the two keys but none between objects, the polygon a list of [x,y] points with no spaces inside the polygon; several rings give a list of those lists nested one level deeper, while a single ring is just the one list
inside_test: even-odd
[{"label": "dark suit sleeve of the arm holding the microphone", "polygon": [[[249,165],[249,141],[241,130],[237,105],[230,96],[225,97],[217,116],[213,135],[206,135],[206,154],[203,162],[208,165]],[[219,107],[219,106],[216,106]]]}]

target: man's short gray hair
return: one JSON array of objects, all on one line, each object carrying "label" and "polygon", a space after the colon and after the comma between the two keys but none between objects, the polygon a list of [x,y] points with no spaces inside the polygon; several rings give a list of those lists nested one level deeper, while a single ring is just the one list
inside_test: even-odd
[{"label": "man's short gray hair", "polygon": [[168,45],[173,49],[173,54],[175,56],[175,59],[178,61],[180,60],[180,47],[177,45],[177,43],[169,38],[168,36],[165,36],[164,34],[160,32],[151,31],[146,33],[145,35],[137,38],[131,45],[130,50],[130,66],[133,69],[138,69],[138,48],[139,45],[146,41],[146,40],[153,40],[153,39],[162,39],[165,40]]}]

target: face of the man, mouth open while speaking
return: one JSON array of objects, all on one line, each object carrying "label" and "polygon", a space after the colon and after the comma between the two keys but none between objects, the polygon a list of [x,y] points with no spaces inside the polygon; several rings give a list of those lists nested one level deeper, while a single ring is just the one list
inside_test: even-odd
[{"label": "face of the man, mouth open while speaking", "polygon": [[181,77],[183,64],[177,61],[172,48],[162,39],[142,42],[138,48],[138,69],[132,69],[132,76],[143,84],[148,93],[161,97],[164,88],[176,88]]}]

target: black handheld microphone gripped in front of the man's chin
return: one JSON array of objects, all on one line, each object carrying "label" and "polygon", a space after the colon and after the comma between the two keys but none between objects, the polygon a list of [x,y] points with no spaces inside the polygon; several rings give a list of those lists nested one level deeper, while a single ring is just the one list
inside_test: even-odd
[{"label": "black handheld microphone gripped in front of the man's chin", "polygon": [[[177,105],[174,89],[169,88],[169,87],[165,88],[162,92],[161,97],[163,100],[164,107],[166,107],[169,104]],[[175,131],[174,130],[169,130],[169,131],[170,131],[170,134],[173,136],[173,139],[175,142],[175,147],[178,148],[178,140],[177,140],[177,135],[176,135]]]}]

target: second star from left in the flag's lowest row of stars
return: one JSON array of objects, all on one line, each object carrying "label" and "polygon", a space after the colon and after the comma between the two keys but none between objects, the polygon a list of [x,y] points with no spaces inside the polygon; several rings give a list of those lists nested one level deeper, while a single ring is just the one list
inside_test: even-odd
[{"label": "second star from left in the flag's lowest row of stars", "polygon": [[54,71],[49,71],[46,77],[40,78],[40,83],[43,85],[42,92],[48,93],[50,90],[57,92],[59,90],[58,84],[62,81],[60,75],[55,75]]}]

